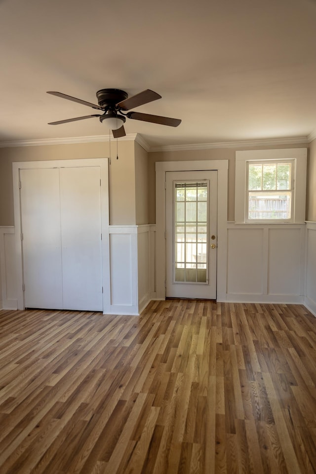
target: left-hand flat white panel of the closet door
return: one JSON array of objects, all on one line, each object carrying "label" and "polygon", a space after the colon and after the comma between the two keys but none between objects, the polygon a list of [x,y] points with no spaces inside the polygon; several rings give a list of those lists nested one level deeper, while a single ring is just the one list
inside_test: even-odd
[{"label": "left-hand flat white panel of the closet door", "polygon": [[63,308],[59,170],[21,169],[26,308]]}]

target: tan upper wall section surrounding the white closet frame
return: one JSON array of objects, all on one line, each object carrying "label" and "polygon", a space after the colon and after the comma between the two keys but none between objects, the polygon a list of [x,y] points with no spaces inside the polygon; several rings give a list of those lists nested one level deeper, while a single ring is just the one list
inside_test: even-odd
[{"label": "tan upper wall section surrounding the white closet frame", "polygon": [[[109,157],[109,143],[81,143],[71,145],[45,145],[0,149],[0,225],[13,226],[13,161],[39,161],[49,159],[79,159]],[[135,160],[134,141],[111,143],[110,224],[135,225]]]}]

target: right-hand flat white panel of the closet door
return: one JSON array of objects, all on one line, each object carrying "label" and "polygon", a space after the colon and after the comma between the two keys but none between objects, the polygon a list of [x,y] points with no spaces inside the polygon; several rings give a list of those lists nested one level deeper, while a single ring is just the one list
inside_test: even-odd
[{"label": "right-hand flat white panel of the closet door", "polygon": [[64,309],[102,311],[100,168],[60,168]]}]

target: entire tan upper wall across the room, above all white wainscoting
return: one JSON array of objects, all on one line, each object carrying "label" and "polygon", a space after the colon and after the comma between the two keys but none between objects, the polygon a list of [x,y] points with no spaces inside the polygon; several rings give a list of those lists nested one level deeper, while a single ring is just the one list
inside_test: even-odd
[{"label": "entire tan upper wall across the room, above all white wainscoting", "polygon": [[[156,161],[228,159],[228,220],[235,218],[235,149],[221,148],[147,153],[137,142],[111,144],[110,223],[141,225],[156,222]],[[308,144],[274,148],[308,147]],[[258,149],[259,147],[256,147]],[[272,148],[272,147],[260,147]],[[309,146],[307,219],[316,221],[316,140]],[[239,149],[238,149],[239,150]],[[251,148],[247,148],[251,150]],[[0,148],[0,225],[13,226],[12,162],[49,159],[102,158],[109,156],[109,143],[82,143]]]}]

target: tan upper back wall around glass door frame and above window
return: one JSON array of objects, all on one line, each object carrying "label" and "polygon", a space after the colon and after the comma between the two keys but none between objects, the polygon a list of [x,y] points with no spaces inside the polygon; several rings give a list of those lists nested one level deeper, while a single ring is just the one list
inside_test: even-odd
[{"label": "tan upper back wall around glass door frame and above window", "polygon": [[[249,147],[242,148],[242,150],[258,150],[258,149],[271,149],[271,148],[304,148],[308,144],[299,144],[299,145],[284,145],[277,147]],[[155,180],[155,163],[156,161],[188,161],[188,160],[198,160],[198,159],[228,159],[229,168],[228,168],[228,213],[227,220],[235,220],[235,153],[241,148],[216,148],[210,150],[187,150],[187,151],[177,151],[177,152],[153,152],[149,153],[149,218],[150,223],[155,223],[156,221],[156,180]],[[316,167],[316,157],[315,157]],[[314,173],[315,174],[315,173]],[[314,181],[315,183],[315,181]]]}]

